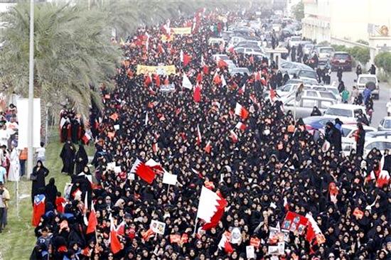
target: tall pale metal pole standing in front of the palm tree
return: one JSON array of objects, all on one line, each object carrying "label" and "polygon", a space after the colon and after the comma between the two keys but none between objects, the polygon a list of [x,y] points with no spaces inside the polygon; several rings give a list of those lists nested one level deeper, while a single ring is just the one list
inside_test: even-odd
[{"label": "tall pale metal pole standing in front of the palm tree", "polygon": [[[30,50],[28,70],[28,131],[27,131],[27,178],[33,172],[33,101],[34,101],[34,1],[30,0]],[[38,123],[36,123],[38,124]]]}]

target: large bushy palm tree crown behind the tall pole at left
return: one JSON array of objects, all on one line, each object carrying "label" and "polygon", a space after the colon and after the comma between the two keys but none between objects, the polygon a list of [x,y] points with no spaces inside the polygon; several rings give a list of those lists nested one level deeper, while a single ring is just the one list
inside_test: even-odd
[{"label": "large bushy palm tree crown behind the tall pole at left", "polygon": [[[27,96],[28,4],[17,4],[1,16],[6,24],[0,41],[0,80],[9,92]],[[46,102],[71,102],[88,115],[92,100],[100,104],[99,86],[111,77],[121,51],[110,43],[107,12],[83,6],[36,4],[34,9],[34,89]]]}]

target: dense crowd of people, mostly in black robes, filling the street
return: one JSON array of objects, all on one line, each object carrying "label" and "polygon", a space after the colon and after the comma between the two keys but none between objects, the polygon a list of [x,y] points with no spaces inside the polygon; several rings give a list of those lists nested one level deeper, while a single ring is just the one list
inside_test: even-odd
[{"label": "dense crowd of people, mostly in black robes, filling the street", "polygon": [[[264,98],[273,82],[284,80],[277,66],[208,45],[237,16],[226,18],[198,11],[169,23],[191,26],[190,35],[169,35],[165,23],[140,28],[122,45],[117,87],[102,88],[104,109],[90,119],[95,172],[82,146],[76,155],[73,137],[80,134],[65,127],[78,126],[70,117],[62,126],[61,158],[72,186],[63,195],[54,180],[36,189],[46,200],[31,259],[247,259],[255,240],[254,259],[390,259],[390,186],[377,182],[390,170],[390,153],[374,148],[364,158],[358,147],[345,156],[334,124],[325,136],[312,135],[284,114],[282,102]],[[230,75],[216,53],[253,74]],[[175,65],[176,73],[137,74],[137,65]],[[183,75],[194,90],[183,87]],[[173,92],[161,91],[171,84]],[[235,113],[237,103],[247,115]],[[142,180],[131,173],[136,159],[160,163],[177,184],[163,183],[162,175]],[[35,170],[47,175],[39,162]],[[195,221],[203,186],[227,202],[208,229]],[[270,253],[277,244],[270,232],[287,212],[311,215],[324,240],[289,232],[284,251]],[[92,214],[97,223],[90,230]],[[162,234],[151,232],[153,220],[164,222]],[[232,249],[220,247],[225,232],[235,230]]]}]

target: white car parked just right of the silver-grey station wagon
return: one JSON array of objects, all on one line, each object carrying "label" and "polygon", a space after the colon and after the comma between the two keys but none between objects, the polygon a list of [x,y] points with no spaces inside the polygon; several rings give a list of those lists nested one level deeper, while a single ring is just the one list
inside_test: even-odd
[{"label": "white car parked just right of the silver-grey station wagon", "polygon": [[368,119],[368,115],[365,112],[365,107],[357,104],[334,104],[328,107],[325,116],[341,119],[341,121],[357,121],[358,114],[363,112]]}]

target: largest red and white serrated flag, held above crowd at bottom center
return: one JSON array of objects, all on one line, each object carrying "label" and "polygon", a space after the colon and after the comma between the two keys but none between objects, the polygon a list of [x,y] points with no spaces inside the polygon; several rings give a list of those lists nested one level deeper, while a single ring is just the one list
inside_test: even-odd
[{"label": "largest red and white serrated flag, held above crowd at bottom center", "polygon": [[227,201],[223,197],[203,186],[197,210],[197,217],[205,222],[203,229],[210,229],[218,224],[226,205]]}]

